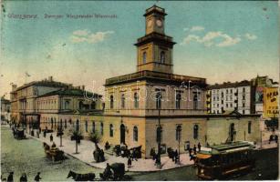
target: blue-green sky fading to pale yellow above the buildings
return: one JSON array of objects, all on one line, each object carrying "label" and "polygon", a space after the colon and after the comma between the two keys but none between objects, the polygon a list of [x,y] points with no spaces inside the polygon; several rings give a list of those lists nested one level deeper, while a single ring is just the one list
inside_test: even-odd
[{"label": "blue-green sky fading to pale yellow above the buildings", "polygon": [[[48,76],[102,94],[106,78],[136,71],[133,44],[145,35],[143,14],[154,4],[165,8],[165,33],[177,43],[174,74],[205,77],[208,84],[257,75],[278,81],[276,1],[5,1],[0,96],[9,97],[11,83]],[[67,18],[94,14],[112,16]]]}]

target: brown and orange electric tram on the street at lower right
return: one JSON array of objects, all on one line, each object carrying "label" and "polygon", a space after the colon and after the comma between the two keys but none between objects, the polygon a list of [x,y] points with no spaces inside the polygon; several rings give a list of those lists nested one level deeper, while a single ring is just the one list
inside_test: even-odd
[{"label": "brown and orange electric tram on the street at lower right", "polygon": [[202,147],[196,156],[197,175],[221,179],[241,175],[254,168],[254,144],[245,141]]}]

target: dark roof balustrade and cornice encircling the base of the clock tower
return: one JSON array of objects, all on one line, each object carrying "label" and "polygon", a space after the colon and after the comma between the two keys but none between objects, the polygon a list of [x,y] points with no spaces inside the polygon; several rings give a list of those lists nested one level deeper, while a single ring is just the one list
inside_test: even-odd
[{"label": "dark roof balustrade and cornice encircling the base of the clock tower", "polygon": [[105,86],[114,86],[123,83],[130,83],[133,81],[140,80],[154,80],[157,83],[166,83],[166,84],[178,84],[181,85],[182,82],[185,83],[185,86],[188,85],[189,81],[191,81],[191,86],[206,86],[206,79],[202,77],[194,77],[194,76],[180,76],[174,74],[166,74],[155,71],[140,71],[133,74],[128,74],[124,76],[116,76],[106,79]]}]

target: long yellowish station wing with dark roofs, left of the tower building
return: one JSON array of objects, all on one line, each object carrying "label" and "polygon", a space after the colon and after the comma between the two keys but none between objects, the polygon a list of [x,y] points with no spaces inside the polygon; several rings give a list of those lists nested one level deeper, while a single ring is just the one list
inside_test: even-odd
[{"label": "long yellowish station wing with dark roofs, left of the tower building", "polygon": [[28,127],[57,130],[81,128],[83,115],[102,112],[100,95],[87,92],[84,86],[56,82],[52,76],[24,86],[13,86],[11,119]]}]

